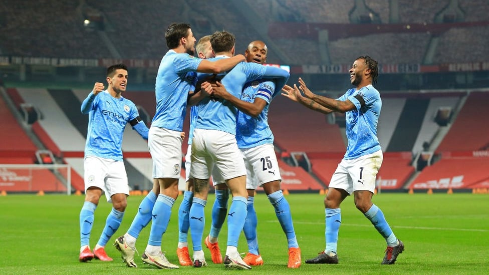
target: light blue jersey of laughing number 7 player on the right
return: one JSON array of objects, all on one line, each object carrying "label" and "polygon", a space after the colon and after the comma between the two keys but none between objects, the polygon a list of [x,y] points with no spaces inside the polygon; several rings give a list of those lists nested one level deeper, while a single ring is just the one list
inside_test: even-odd
[{"label": "light blue jersey of laughing number 7 player on the right", "polygon": [[[365,102],[362,104],[355,96],[360,96]],[[348,147],[344,159],[355,159],[372,154],[381,149],[377,139],[377,123],[379,121],[382,100],[380,93],[372,85],[367,85],[360,90],[349,89],[338,100],[350,100],[356,110],[345,113],[346,136]]]}]

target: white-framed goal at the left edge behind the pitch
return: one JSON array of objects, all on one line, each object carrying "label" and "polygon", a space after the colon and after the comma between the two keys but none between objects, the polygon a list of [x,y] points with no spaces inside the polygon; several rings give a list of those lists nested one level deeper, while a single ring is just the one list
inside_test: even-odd
[{"label": "white-framed goal at the left edge behind the pitch", "polygon": [[71,194],[70,164],[0,164],[0,191]]}]

